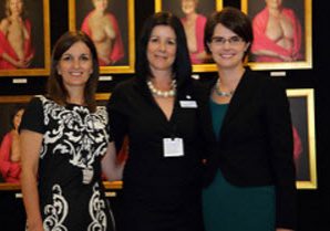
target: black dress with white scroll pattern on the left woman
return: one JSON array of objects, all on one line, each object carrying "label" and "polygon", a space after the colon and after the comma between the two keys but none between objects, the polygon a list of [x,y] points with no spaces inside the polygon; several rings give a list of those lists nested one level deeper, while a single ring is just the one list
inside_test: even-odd
[{"label": "black dress with white scroll pattern on the left woman", "polygon": [[[111,140],[105,107],[90,113],[35,96],[20,129],[43,135],[38,175],[44,230],[114,230],[101,179],[101,158]],[[93,176],[84,180],[86,169]]]}]

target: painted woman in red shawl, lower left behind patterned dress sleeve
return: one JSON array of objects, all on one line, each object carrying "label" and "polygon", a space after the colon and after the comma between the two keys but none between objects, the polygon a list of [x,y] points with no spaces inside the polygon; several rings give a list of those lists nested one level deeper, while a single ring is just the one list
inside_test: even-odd
[{"label": "painted woman in red shawl, lower left behind patterned dress sleeve", "polygon": [[6,182],[20,182],[21,151],[19,126],[24,108],[18,108],[11,117],[12,129],[6,134],[0,146],[0,171]]}]

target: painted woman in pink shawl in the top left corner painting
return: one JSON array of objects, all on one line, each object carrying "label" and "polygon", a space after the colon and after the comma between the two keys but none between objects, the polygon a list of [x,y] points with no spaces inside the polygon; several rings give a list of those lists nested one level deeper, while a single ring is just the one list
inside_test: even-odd
[{"label": "painted woman in pink shawl in the top left corner painting", "polygon": [[6,0],[6,18],[0,21],[0,70],[27,69],[34,51],[31,22],[24,17],[23,0]]}]

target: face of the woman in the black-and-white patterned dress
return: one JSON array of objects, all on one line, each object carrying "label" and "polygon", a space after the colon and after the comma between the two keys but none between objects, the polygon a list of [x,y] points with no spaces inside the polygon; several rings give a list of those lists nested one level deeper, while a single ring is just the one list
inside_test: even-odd
[{"label": "face of the woman in the black-and-white patterned dress", "polygon": [[58,74],[62,76],[68,91],[84,87],[93,73],[93,56],[84,42],[76,42],[65,51],[58,64]]}]

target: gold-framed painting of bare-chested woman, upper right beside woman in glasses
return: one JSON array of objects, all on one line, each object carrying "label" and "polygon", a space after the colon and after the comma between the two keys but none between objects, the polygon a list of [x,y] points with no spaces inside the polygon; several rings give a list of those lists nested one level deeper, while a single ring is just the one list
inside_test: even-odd
[{"label": "gold-framed painting of bare-chested woman, upper right beside woman in glasses", "polygon": [[252,21],[252,70],[312,67],[311,0],[241,0],[240,6]]}]

